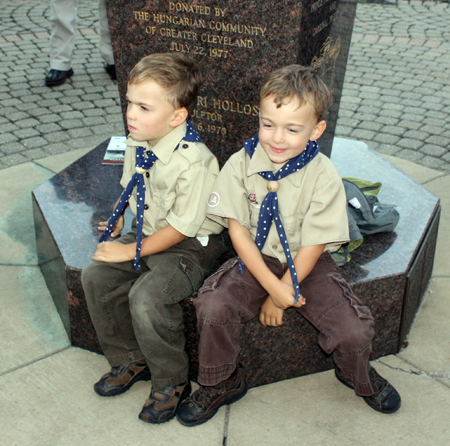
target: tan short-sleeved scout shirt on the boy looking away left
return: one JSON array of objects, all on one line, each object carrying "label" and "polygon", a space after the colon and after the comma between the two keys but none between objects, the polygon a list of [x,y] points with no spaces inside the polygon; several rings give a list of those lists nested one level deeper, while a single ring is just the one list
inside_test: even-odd
[{"label": "tan short-sleeved scout shirt on the boy looking away left", "polygon": [[[145,205],[143,235],[148,237],[170,224],[186,237],[218,234],[222,227],[206,218],[206,202],[219,173],[215,156],[203,143],[182,141],[186,123],[176,127],[154,147],[147,142],[126,141],[120,184],[125,188],[135,173],[136,147],[153,150],[158,157],[144,173]],[[178,150],[175,147],[180,143]],[[129,204],[136,215],[136,188]],[[147,207],[146,206],[146,207]]]}]

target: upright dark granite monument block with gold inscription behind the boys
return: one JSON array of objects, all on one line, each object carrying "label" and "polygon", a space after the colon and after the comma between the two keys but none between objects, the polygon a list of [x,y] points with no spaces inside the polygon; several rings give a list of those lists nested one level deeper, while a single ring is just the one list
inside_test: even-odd
[{"label": "upright dark granite monument block with gold inscription behind the boys", "polygon": [[142,57],[191,54],[205,75],[192,121],[223,164],[256,133],[263,76],[284,65],[312,65],[334,94],[321,140],[329,155],[356,0],[108,0],[107,6],[124,111],[127,76]]}]

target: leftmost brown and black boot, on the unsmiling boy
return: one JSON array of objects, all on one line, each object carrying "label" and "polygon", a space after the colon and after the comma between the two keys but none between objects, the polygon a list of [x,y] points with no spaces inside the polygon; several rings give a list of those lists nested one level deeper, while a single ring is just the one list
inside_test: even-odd
[{"label": "leftmost brown and black boot, on the unsmiling boy", "polygon": [[145,359],[130,364],[111,367],[111,371],[94,384],[100,396],[116,396],[126,392],[137,381],[148,381],[150,370]]}]

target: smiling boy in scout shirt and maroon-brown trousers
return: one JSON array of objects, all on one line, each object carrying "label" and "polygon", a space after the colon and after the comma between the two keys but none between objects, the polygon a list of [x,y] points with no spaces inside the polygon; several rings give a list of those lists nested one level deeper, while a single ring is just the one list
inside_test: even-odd
[{"label": "smiling boy in scout shirt and maroon-brown trousers", "polygon": [[204,423],[247,392],[236,364],[240,324],[259,313],[264,326],[282,325],[289,307],[319,330],[343,384],[375,410],[400,407],[397,391],[369,364],[372,315],[330,255],[349,234],[342,180],[316,143],[329,101],[310,68],[271,73],[260,93],[259,134],[216,180],[208,216],[228,226],[239,258],[207,279],[195,300],[200,388],[178,409],[186,426]]}]

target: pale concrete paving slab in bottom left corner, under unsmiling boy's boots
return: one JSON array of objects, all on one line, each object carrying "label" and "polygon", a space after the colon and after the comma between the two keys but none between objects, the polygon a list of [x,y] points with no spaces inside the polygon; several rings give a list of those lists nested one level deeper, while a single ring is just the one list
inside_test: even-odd
[{"label": "pale concrete paving slab in bottom left corner, under unsmiling boy's boots", "polygon": [[[109,369],[104,357],[70,348],[0,376],[1,444],[8,446],[220,446],[224,417],[186,428],[162,425],[138,414],[150,383],[127,393],[98,396],[92,386]],[[223,415],[223,414],[222,414]]]}]

